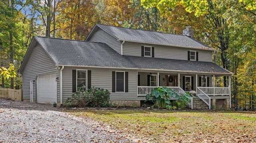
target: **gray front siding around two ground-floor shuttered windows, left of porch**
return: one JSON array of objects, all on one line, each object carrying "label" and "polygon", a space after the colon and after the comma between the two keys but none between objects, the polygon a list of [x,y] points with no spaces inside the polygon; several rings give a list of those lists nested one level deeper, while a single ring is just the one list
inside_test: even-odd
[{"label": "gray front siding around two ground-floor shuttered windows, left of porch", "polygon": [[[137,72],[136,70],[120,70],[105,68],[64,67],[62,71],[62,99],[63,102],[71,97],[72,93],[72,70],[91,70],[92,87],[104,88],[110,92],[110,100],[137,100]],[[128,92],[112,92],[112,71],[128,72]]]}]

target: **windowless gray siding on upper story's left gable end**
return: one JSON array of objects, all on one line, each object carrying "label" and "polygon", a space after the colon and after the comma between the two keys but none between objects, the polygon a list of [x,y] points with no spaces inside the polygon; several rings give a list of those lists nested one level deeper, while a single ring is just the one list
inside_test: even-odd
[{"label": "windowless gray siding on upper story's left gable end", "polygon": [[120,41],[117,41],[116,38],[108,34],[102,29],[97,29],[95,33],[93,33],[92,37],[89,39],[89,41],[93,42],[100,42],[100,43],[106,43],[109,47],[114,49],[117,53],[121,53],[121,43]]}]

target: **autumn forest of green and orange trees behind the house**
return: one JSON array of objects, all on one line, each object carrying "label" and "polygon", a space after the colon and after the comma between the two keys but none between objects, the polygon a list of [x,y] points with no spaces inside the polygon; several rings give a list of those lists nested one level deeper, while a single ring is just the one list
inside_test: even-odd
[{"label": "autumn forest of green and orange trees behind the house", "polygon": [[0,86],[22,88],[33,36],[84,40],[97,23],[173,34],[192,26],[217,50],[214,63],[234,73],[232,107],[255,109],[255,0],[0,0]]}]

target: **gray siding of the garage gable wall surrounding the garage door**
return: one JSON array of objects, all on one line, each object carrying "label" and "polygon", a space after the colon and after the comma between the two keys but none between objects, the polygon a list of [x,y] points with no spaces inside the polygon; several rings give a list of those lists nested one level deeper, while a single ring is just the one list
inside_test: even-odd
[{"label": "gray siding of the garage gable wall surrounding the garage door", "polygon": [[[60,72],[55,69],[55,63],[48,56],[48,54],[37,45],[32,50],[28,62],[22,73],[22,97],[24,100],[30,100],[30,80],[35,80],[37,76],[44,74],[56,74],[56,77],[60,77]],[[60,101],[60,83],[57,84],[57,100]],[[36,101],[36,82],[33,83],[33,99]]]}]

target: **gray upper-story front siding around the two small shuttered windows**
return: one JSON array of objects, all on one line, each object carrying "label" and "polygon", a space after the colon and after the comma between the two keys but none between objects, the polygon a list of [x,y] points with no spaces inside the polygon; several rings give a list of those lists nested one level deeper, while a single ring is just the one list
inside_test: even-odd
[{"label": "gray upper-story front siding around the two small shuttered windows", "polygon": [[171,47],[164,45],[152,45],[144,43],[125,42],[123,45],[123,55],[141,56],[142,46],[154,47],[154,57],[164,59],[188,60],[188,51],[198,52],[198,61],[212,62],[212,51],[201,49],[190,49],[182,47]]}]

